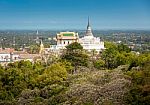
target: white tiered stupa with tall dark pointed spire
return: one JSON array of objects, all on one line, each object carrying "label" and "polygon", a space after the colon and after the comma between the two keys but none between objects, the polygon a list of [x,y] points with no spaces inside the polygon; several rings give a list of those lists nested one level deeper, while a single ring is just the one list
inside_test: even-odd
[{"label": "white tiered stupa with tall dark pointed spire", "polygon": [[99,37],[93,36],[89,19],[86,33],[84,37],[79,39],[79,43],[83,46],[83,49],[88,51],[96,50],[99,52],[104,49],[104,42]]}]

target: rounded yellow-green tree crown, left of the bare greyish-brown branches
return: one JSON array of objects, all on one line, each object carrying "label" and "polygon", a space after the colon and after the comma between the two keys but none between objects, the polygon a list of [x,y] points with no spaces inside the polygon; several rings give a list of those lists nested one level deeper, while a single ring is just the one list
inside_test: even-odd
[{"label": "rounded yellow-green tree crown, left of the bare greyish-brown branches", "polygon": [[51,84],[59,84],[67,77],[66,68],[61,63],[54,63],[35,78],[35,84],[43,88]]}]

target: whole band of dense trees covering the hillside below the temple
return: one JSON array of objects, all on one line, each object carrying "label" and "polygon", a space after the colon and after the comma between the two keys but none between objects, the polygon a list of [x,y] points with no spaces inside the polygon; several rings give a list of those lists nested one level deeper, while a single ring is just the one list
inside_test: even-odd
[{"label": "whole band of dense trees covering the hillside below the temple", "polygon": [[149,105],[150,53],[136,54],[123,44],[105,46],[96,58],[73,43],[47,64],[0,66],[0,104]]}]

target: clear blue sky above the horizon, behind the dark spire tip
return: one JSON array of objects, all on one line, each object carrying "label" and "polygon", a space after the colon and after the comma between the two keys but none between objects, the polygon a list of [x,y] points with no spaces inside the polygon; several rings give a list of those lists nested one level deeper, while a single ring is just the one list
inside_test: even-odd
[{"label": "clear blue sky above the horizon, behind the dark spire tip", "polygon": [[150,30],[150,0],[0,0],[0,30]]}]

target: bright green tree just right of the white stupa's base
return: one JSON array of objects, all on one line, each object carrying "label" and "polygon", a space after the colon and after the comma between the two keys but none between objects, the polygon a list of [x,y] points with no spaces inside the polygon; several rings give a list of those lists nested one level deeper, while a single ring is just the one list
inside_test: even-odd
[{"label": "bright green tree just right of the white stupa's base", "polygon": [[120,65],[129,64],[131,69],[138,63],[137,55],[131,52],[131,49],[124,44],[114,44],[106,42],[106,50],[102,52],[102,59],[108,69],[116,68]]}]

